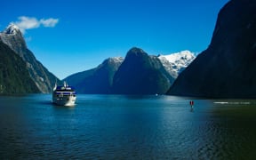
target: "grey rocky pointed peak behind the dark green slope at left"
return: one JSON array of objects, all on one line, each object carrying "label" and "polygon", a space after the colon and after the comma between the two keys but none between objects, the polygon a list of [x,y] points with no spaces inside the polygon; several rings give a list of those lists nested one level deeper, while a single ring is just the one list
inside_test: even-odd
[{"label": "grey rocky pointed peak behind the dark green slope at left", "polygon": [[55,82],[57,81],[60,83],[60,80],[56,76],[50,73],[38,60],[36,60],[33,52],[28,50],[22,33],[16,25],[11,24],[1,32],[0,41],[7,44],[26,62],[26,68],[28,68],[29,75],[36,83],[40,92],[52,92]]}]

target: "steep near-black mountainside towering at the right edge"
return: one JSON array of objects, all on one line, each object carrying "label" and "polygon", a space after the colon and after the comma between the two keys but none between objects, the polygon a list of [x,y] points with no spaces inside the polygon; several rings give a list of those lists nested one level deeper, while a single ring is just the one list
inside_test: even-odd
[{"label": "steep near-black mountainside towering at the right edge", "polygon": [[167,94],[256,97],[256,1],[231,0],[219,12],[209,47]]}]

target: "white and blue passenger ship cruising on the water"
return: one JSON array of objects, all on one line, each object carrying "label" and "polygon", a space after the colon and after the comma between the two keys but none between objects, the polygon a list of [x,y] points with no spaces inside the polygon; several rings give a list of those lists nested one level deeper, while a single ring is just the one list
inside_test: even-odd
[{"label": "white and blue passenger ship cruising on the water", "polygon": [[64,82],[63,86],[55,84],[52,91],[52,102],[60,106],[75,106],[76,91],[73,87]]}]

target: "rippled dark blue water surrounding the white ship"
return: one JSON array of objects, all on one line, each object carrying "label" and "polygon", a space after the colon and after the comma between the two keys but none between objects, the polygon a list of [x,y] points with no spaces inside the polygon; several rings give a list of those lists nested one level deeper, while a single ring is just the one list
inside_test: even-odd
[{"label": "rippled dark blue water surrounding the white ship", "polygon": [[0,97],[0,158],[253,159],[256,100],[78,95]]}]

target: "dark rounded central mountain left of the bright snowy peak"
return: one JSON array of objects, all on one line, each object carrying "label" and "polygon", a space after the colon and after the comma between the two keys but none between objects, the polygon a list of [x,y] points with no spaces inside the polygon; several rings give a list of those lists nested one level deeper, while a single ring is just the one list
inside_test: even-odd
[{"label": "dark rounded central mountain left of the bright snowy peak", "polygon": [[127,52],[113,79],[115,94],[163,94],[174,77],[165,70],[156,56],[149,56],[140,48]]}]

